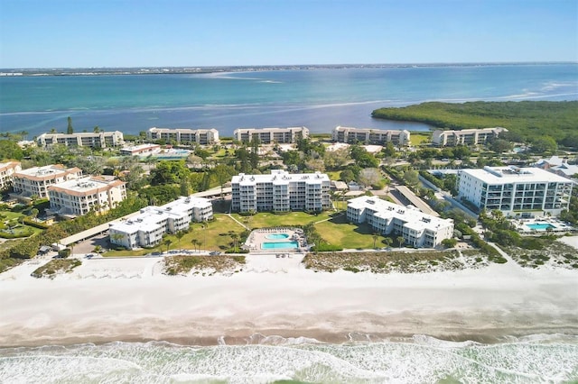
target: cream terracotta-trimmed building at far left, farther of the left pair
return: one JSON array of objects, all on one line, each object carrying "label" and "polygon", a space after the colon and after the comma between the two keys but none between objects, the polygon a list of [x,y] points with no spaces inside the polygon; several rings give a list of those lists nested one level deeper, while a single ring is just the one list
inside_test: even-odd
[{"label": "cream terracotta-trimmed building at far left, farther of the left pair", "polygon": [[15,197],[48,197],[48,187],[82,177],[79,168],[66,169],[62,165],[33,167],[14,172],[13,187]]}]

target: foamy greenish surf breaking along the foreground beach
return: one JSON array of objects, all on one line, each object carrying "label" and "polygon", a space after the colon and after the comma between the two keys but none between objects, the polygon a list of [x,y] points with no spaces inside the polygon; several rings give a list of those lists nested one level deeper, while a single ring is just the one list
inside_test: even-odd
[{"label": "foamy greenish surf breaking along the foreground beach", "polygon": [[[377,343],[257,337],[247,345],[107,343],[0,349],[5,383],[536,383],[578,381],[578,337],[505,343],[424,335]],[[285,381],[286,380],[286,381]]]}]

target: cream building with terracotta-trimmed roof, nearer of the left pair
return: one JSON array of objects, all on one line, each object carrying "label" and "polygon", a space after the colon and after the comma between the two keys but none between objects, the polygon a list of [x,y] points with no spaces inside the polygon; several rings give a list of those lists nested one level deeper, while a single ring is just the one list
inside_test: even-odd
[{"label": "cream building with terracotta-trimmed roof, nearer of the left pair", "polygon": [[103,177],[86,177],[64,181],[48,187],[51,212],[74,217],[90,211],[104,213],[126,198],[126,183]]}]

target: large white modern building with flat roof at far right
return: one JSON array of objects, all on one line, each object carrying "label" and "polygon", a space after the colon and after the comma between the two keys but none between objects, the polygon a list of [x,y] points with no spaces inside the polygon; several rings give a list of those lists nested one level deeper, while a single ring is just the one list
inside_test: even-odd
[{"label": "large white modern building with flat roof at far right", "polygon": [[568,209],[573,181],[544,169],[484,167],[460,169],[458,197],[480,210],[531,217]]}]

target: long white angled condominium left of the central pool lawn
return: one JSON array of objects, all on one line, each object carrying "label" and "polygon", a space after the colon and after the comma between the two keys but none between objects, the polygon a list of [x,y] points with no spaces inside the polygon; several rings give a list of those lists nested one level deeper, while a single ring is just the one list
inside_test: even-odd
[{"label": "long white angled condominium left of the central pool lawn", "polygon": [[129,220],[110,224],[113,244],[128,249],[148,247],[163,240],[165,233],[177,233],[191,222],[205,222],[213,217],[210,200],[202,197],[179,197],[164,206],[147,206]]}]

